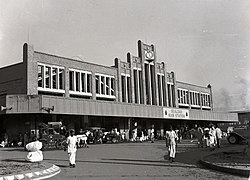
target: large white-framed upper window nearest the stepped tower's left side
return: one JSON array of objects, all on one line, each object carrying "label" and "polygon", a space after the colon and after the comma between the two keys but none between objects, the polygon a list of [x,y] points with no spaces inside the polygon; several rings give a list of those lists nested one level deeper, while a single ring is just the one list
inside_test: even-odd
[{"label": "large white-framed upper window nearest the stepped tower's left side", "polygon": [[115,78],[114,76],[98,74],[96,79],[96,97],[98,98],[115,98]]}]

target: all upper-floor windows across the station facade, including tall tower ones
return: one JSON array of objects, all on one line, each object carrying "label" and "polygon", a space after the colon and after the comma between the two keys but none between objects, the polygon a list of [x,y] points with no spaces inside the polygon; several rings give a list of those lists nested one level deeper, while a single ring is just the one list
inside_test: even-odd
[{"label": "all upper-floor windows across the station facade, including tall tower ones", "polygon": [[[148,68],[150,69],[150,68]],[[152,70],[153,71],[153,70]],[[143,104],[143,83],[142,72],[140,69],[134,69],[134,95],[135,103]],[[151,73],[146,73],[147,76]],[[147,82],[147,81],[146,81]],[[38,64],[38,90],[46,92],[65,93],[65,69],[64,67]],[[122,102],[131,103],[131,78],[129,74],[121,75],[122,87]],[[153,83],[153,79],[146,83],[149,86]],[[95,74],[95,91],[97,98],[115,99],[115,77],[105,74]],[[163,74],[157,74],[158,84],[158,100],[160,106],[174,107],[175,93],[174,85],[165,83]],[[92,96],[92,73],[77,69],[69,69],[69,93],[71,95]],[[165,89],[167,88],[168,94]],[[146,88],[147,89],[147,88]],[[146,94],[147,104],[153,104],[154,89],[148,87]],[[168,102],[166,96],[168,95]],[[192,107],[210,107],[210,95],[186,89],[177,89],[178,104],[181,106],[189,106],[189,101]],[[148,100],[150,98],[150,100]]]}]

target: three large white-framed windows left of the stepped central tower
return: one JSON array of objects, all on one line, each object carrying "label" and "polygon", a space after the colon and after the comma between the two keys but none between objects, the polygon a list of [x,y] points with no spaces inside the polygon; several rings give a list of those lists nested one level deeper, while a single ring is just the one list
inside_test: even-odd
[{"label": "three large white-framed windows left of the stepped central tower", "polygon": [[[115,78],[110,75],[95,74],[96,96],[115,98]],[[65,69],[58,66],[38,64],[38,90],[65,93]],[[92,73],[69,69],[69,93],[92,96]]]}]

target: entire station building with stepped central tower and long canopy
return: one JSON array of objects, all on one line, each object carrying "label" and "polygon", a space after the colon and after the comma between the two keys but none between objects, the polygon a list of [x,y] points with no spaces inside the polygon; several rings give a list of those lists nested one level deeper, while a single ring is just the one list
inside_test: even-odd
[{"label": "entire station building with stepped central tower and long canopy", "polygon": [[35,51],[24,44],[23,62],[0,68],[0,127],[10,136],[35,132],[40,122],[67,128],[151,129],[237,122],[235,113],[213,111],[211,85],[176,80],[154,45],[138,41],[138,56],[107,67]]}]

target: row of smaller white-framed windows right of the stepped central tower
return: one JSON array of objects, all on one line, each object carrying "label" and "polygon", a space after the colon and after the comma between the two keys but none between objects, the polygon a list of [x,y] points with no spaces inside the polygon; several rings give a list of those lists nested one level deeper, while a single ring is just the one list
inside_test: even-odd
[{"label": "row of smaller white-framed windows right of the stepped central tower", "polygon": [[210,95],[186,89],[177,89],[178,103],[181,106],[189,106],[189,101],[192,107],[210,107]]}]

